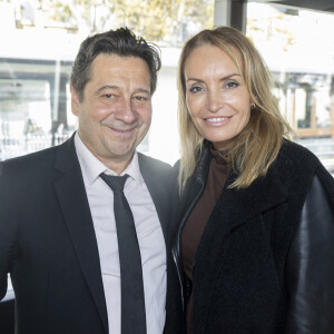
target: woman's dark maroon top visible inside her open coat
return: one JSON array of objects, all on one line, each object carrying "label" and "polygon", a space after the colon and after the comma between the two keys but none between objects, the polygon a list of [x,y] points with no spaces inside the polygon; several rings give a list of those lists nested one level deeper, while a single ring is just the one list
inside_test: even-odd
[{"label": "woman's dark maroon top visible inside her open coat", "polygon": [[[194,210],[188,217],[181,232],[181,254],[184,271],[191,281],[191,268],[198,243],[202,238],[205,225],[214,209],[228,176],[229,167],[223,157],[223,153],[212,149],[213,159],[206,187]],[[193,322],[193,292],[187,304],[187,333],[191,333]]]}]

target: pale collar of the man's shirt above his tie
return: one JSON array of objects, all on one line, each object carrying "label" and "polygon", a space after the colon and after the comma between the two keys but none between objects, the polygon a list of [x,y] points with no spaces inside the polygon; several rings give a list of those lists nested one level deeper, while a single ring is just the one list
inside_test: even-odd
[{"label": "pale collar of the man's shirt above his tie", "polygon": [[[109,175],[117,175],[114,170],[105,166],[82,143],[78,132],[75,135],[75,146],[77,156],[82,169],[82,174],[86,175],[87,180],[92,185],[100,176],[101,173]],[[138,153],[135,151],[131,163],[120,174],[128,174],[137,184],[143,184],[144,179],[139,169]]]}]

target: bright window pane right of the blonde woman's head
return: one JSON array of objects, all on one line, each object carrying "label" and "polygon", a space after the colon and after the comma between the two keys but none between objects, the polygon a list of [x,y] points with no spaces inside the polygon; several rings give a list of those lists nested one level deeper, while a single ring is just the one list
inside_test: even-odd
[{"label": "bright window pane right of the blonde woman's head", "polygon": [[273,72],[282,111],[299,138],[334,137],[333,26],[333,14],[247,6],[247,36]]}]

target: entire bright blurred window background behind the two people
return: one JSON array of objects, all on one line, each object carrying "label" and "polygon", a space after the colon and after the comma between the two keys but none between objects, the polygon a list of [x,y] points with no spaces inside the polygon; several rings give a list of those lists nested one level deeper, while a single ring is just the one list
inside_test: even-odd
[{"label": "entire bright blurred window background behind the two people", "polygon": [[[334,174],[333,0],[0,0],[0,160],[65,141],[77,128],[69,77],[80,42],[127,26],[161,50],[151,128],[139,150],[174,164],[183,43],[215,26],[244,31],[262,52],[295,141]],[[13,333],[13,292],[0,332]]]}]

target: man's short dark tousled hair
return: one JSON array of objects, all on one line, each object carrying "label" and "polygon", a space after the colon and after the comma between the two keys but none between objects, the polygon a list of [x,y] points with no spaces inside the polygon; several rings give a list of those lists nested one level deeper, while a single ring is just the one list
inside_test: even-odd
[{"label": "man's short dark tousled hair", "polygon": [[119,28],[90,36],[81,42],[70,77],[70,82],[80,101],[84,99],[86,84],[90,79],[91,63],[100,53],[141,58],[149,69],[150,94],[155,92],[157,72],[161,67],[159,49],[144,38],[136,37],[128,28]]}]

